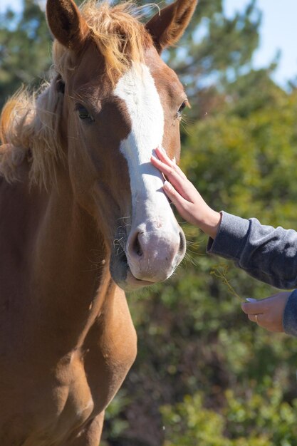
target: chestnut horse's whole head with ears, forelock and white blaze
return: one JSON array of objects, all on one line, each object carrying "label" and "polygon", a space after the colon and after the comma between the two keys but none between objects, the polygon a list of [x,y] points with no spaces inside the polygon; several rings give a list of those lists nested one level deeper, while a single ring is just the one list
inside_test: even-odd
[{"label": "chestnut horse's whole head with ears, forelock and white blaze", "polygon": [[123,289],[167,279],[185,253],[150,157],[162,146],[179,160],[187,96],[160,53],[182,36],[195,5],[177,0],[142,24],[130,4],[87,2],[80,11],[72,0],[47,2],[73,193],[98,221]]}]

